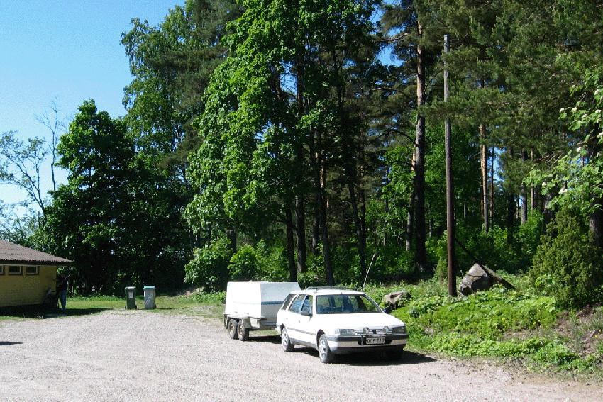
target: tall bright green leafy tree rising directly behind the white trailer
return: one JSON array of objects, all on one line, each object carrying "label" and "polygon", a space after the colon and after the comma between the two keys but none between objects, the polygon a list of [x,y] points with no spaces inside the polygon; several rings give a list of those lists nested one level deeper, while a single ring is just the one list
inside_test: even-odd
[{"label": "tall bright green leafy tree rising directly behind the white trailer", "polygon": [[[258,218],[269,216],[267,211],[283,211],[282,220],[270,223],[281,220],[287,226],[289,257],[295,230],[297,271],[304,272],[306,201],[314,196],[326,281],[332,284],[326,152],[336,155],[348,180],[353,215],[360,216],[357,167],[350,162],[357,152],[356,126],[345,109],[343,67],[353,63],[370,31],[370,3],[245,1],[243,9],[226,38],[228,60],[216,69],[206,91],[206,110],[198,123],[203,143],[191,160],[199,194],[189,205],[189,221],[194,228],[222,221],[253,233],[265,226]],[[337,143],[341,147],[329,147]],[[267,191],[267,182],[280,186]],[[294,278],[296,272],[290,269],[290,274]]]}]

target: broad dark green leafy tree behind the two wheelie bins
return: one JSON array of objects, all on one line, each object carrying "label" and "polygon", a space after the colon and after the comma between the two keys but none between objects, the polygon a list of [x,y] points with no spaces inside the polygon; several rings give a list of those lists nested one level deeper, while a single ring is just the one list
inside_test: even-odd
[{"label": "broad dark green leafy tree behind the two wheelie bins", "polygon": [[43,228],[53,252],[76,262],[82,292],[126,284],[182,284],[182,219],[169,189],[135,152],[121,119],[85,101],[57,147],[67,184],[53,192]]}]

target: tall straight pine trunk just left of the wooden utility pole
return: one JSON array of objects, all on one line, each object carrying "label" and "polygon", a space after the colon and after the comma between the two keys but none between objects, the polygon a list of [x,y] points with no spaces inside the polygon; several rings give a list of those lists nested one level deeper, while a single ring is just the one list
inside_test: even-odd
[{"label": "tall straight pine trunk just left of the wooden utility pole", "polygon": [[[423,35],[421,23],[417,23],[419,37]],[[416,105],[425,105],[425,72],[424,54],[421,45],[416,47]],[[419,272],[427,267],[425,250],[425,118],[417,113],[415,130],[414,160],[414,232],[415,257]]]}]

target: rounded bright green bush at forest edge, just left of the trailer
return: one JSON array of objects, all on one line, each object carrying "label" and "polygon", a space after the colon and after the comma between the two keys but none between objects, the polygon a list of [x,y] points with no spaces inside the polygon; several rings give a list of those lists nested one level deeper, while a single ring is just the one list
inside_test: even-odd
[{"label": "rounded bright green bush at forest edge, just left of the trailer", "polygon": [[202,286],[206,291],[226,289],[231,257],[230,241],[226,238],[219,238],[205,247],[197,248],[193,252],[193,258],[184,267],[184,280],[189,284]]}]

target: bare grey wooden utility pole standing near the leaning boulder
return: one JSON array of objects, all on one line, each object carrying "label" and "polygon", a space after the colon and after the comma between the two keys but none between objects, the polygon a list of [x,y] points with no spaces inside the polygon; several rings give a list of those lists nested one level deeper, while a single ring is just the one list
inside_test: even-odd
[{"label": "bare grey wooden utility pole standing near the leaning boulder", "polygon": [[[444,52],[450,52],[448,35],[444,35]],[[444,59],[444,102],[448,102],[448,66]],[[448,294],[456,296],[455,257],[454,257],[454,184],[452,175],[452,142],[450,117],[446,116],[444,125],[444,147],[446,148],[446,230],[448,231]]]}]

